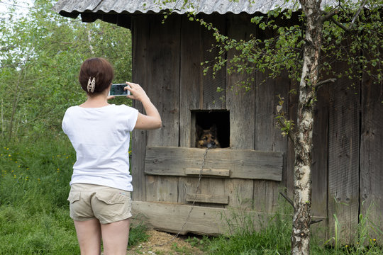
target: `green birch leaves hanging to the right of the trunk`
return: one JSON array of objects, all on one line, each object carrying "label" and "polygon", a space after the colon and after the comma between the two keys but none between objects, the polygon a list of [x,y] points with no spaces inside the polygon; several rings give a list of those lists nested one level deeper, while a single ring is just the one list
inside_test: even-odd
[{"label": "green birch leaves hanging to the right of the trunk", "polygon": [[[362,75],[382,82],[382,1],[369,0],[355,21],[361,1],[345,1],[337,15],[323,24],[323,73],[359,80]],[[332,11],[326,9],[326,11]],[[339,24],[339,25],[336,25]],[[348,64],[343,73],[333,72],[336,64]]]}]

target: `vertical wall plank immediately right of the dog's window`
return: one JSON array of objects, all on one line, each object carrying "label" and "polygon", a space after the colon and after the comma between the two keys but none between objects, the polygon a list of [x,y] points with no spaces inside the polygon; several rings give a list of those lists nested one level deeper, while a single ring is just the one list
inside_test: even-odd
[{"label": "vertical wall plank immediately right of the dog's window", "polygon": [[[256,31],[255,26],[249,21],[250,16],[247,14],[228,15],[228,37],[236,40],[248,40],[250,34]],[[238,52],[234,50],[228,52],[228,62],[235,54]],[[248,84],[250,91],[246,91],[240,86],[240,81],[247,78],[248,74],[228,74],[226,72],[226,107],[230,111],[231,149],[254,149],[255,84]],[[254,181],[252,180],[226,180],[229,206],[251,208],[253,189]]]}]

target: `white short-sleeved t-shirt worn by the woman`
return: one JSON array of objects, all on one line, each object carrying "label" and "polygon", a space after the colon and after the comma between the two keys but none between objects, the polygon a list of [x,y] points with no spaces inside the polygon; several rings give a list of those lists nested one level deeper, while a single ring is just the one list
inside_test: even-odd
[{"label": "white short-sleeved t-shirt worn by the woman", "polygon": [[77,154],[70,185],[90,183],[133,191],[128,150],[137,118],[138,111],[125,105],[68,108],[62,130]]}]

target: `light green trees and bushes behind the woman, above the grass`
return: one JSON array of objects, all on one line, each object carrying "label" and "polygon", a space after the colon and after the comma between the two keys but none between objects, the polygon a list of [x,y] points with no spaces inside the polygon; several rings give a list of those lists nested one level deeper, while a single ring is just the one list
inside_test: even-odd
[{"label": "light green trees and bushes behind the woman, above the grass", "polygon": [[62,18],[51,8],[51,1],[38,0],[27,16],[11,8],[0,20],[1,139],[57,133],[65,109],[86,98],[77,77],[88,57],[108,59],[114,81],[131,79],[128,29]]}]

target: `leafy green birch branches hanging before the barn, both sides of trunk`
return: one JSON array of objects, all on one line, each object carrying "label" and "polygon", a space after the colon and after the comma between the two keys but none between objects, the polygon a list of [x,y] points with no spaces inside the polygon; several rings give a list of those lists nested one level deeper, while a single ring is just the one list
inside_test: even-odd
[{"label": "leafy green birch branches hanging before the barn, both sides of trunk", "polygon": [[[357,80],[362,74],[367,74],[379,84],[383,78],[382,1],[367,0],[365,8],[362,8],[354,20],[362,2],[340,1],[335,8],[325,8],[324,13],[336,9],[338,14],[323,24],[321,74]],[[187,5],[187,8],[192,6]],[[256,72],[267,72],[269,77],[275,78],[282,71],[287,71],[291,79],[300,81],[306,43],[306,18],[304,13],[298,11],[298,6],[288,10],[277,7],[267,14],[253,16],[251,22],[267,36],[250,35],[246,40],[229,38],[224,31],[219,31],[212,23],[195,16],[193,12],[189,13],[189,17],[191,21],[213,30],[216,38],[218,55],[215,60],[202,63],[205,67],[204,74],[213,69],[214,76],[219,70],[226,69],[228,74],[248,74],[248,79],[244,82],[250,83],[254,81]],[[228,60],[226,53],[229,51],[235,54]],[[332,70],[338,63],[347,63],[349,67],[344,72],[335,73]],[[243,83],[240,84],[243,86]]]}]

